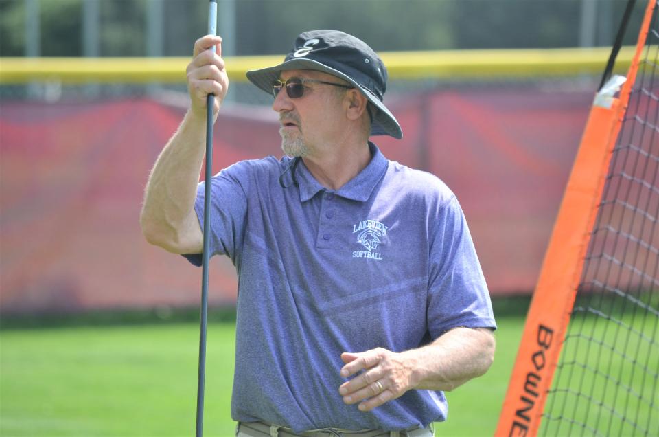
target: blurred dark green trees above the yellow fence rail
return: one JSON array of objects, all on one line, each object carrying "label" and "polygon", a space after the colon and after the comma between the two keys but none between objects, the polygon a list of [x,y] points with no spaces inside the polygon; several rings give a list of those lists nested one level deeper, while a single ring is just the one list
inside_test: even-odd
[{"label": "blurred dark green trees above the yellow fence rail", "polygon": [[[229,32],[235,40],[227,54],[254,55],[288,52],[297,34],[317,28],[355,34],[379,51],[608,46],[627,1],[218,3],[218,33],[226,40]],[[642,12],[643,4],[637,5],[634,21]],[[192,41],[203,34],[206,15],[205,0],[0,0],[0,55],[29,55],[27,41],[36,37],[36,56],[187,56]]]}]

